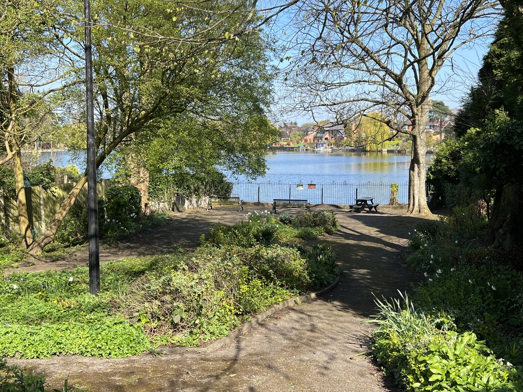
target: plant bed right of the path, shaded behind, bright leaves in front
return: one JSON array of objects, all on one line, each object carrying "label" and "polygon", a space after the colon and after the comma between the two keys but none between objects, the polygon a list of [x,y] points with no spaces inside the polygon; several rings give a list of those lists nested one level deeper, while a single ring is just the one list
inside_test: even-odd
[{"label": "plant bed right of the path, shaded behind, bright leaves in front", "polygon": [[407,263],[424,275],[395,301],[378,301],[372,353],[407,390],[522,390],[523,275],[483,243],[473,207],[411,232]]}]

